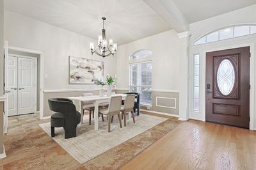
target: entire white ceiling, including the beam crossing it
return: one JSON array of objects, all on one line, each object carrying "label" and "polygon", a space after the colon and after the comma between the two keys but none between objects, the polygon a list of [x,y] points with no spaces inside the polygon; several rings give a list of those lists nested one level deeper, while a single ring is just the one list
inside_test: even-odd
[{"label": "entire white ceiling, including the beam crossing it", "polygon": [[182,32],[189,23],[252,4],[256,0],[4,0],[12,12],[94,39],[107,17],[106,36],[119,45],[172,28]]}]

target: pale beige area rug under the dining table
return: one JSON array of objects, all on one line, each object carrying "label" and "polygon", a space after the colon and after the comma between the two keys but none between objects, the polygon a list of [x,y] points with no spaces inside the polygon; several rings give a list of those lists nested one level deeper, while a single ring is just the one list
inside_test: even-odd
[{"label": "pale beige area rug under the dining table", "polygon": [[[104,122],[99,119],[99,130],[95,131],[93,121],[92,125],[89,125],[88,115],[86,115],[84,116],[84,123],[77,126],[77,137],[65,139],[63,128],[55,128],[56,136],[53,139],[77,162],[84,164],[84,162],[167,120],[166,118],[141,114],[136,116],[136,123],[133,123],[132,119],[127,120],[127,126],[124,127],[124,121],[122,121],[123,128],[120,128],[116,117],[111,123],[111,132],[109,133],[106,118]],[[50,123],[40,124],[40,127],[51,135]]]}]

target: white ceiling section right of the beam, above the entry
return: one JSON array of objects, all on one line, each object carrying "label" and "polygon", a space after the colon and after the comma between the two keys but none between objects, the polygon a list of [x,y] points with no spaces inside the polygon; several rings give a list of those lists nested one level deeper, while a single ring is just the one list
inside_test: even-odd
[{"label": "white ceiling section right of the beam, above the entry", "polygon": [[[160,0],[161,1],[161,0]],[[162,0],[167,1],[167,0]],[[173,0],[189,23],[256,4],[256,0]]]}]

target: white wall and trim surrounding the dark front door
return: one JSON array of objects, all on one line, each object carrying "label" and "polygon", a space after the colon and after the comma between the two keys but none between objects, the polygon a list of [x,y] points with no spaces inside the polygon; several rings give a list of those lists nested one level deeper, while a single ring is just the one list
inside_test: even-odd
[{"label": "white wall and trim surrounding the dark front door", "polygon": [[[189,56],[190,56],[190,66],[191,66],[191,82],[193,78],[193,54],[200,54],[200,112],[190,111],[190,118],[195,118],[198,120],[205,120],[205,53],[214,51],[214,50],[223,50],[223,49],[232,49],[236,47],[250,46],[252,52],[251,58],[251,86],[254,87],[256,92],[256,87],[254,86],[256,79],[255,71],[253,66],[255,66],[255,54],[256,54],[256,35],[242,36],[239,38],[233,38],[230,40],[222,40],[220,42],[212,42],[204,45],[193,45],[193,42],[200,36],[205,35],[211,31],[221,29],[227,26],[233,26],[237,24],[256,24],[256,5],[248,6],[234,12],[225,13],[217,17],[212,17],[211,19],[202,20],[200,22],[195,22],[190,24],[190,47],[189,47]],[[191,93],[193,84],[191,86]],[[191,94],[190,94],[191,95]],[[256,95],[256,94],[254,94]],[[254,99],[254,95],[251,94],[251,102]],[[191,95],[192,96],[192,95]],[[192,98],[191,100],[192,101]],[[191,104],[192,105],[192,104]],[[254,112],[251,114],[254,116],[254,128],[256,129],[256,107],[255,103],[251,103]],[[253,127],[250,127],[253,129]]]}]

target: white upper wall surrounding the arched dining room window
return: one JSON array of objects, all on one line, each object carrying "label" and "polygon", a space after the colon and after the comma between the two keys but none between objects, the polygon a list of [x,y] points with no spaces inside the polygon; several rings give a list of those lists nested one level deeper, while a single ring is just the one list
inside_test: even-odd
[{"label": "white upper wall surrounding the arched dining room window", "polygon": [[153,53],[152,89],[179,91],[179,37],[174,30],[120,45],[116,58],[117,88],[129,88],[129,56],[137,50]]}]

